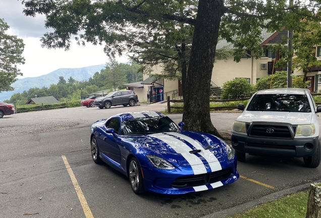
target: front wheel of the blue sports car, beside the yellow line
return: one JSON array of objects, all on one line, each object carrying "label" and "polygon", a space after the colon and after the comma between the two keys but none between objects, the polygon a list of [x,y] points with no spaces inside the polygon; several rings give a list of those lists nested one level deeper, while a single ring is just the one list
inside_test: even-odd
[{"label": "front wheel of the blue sports car, beside the yellow line", "polygon": [[132,157],[129,161],[128,178],[130,186],[135,194],[142,194],[145,192],[142,172],[139,162],[135,157]]}]

